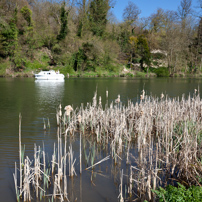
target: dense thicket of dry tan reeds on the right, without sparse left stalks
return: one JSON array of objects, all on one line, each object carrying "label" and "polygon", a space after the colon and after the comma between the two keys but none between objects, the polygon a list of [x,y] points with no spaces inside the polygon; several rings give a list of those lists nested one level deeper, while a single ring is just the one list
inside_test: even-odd
[{"label": "dense thicket of dry tan reeds on the right, without sparse left stalks", "polygon": [[[189,186],[200,185],[201,117],[202,101],[197,90],[187,99],[169,98],[163,93],[160,98],[147,96],[143,90],[140,102],[128,101],[127,106],[118,95],[115,103],[104,109],[95,93],[92,104],[72,113],[65,126],[69,131],[94,135],[99,144],[109,143],[115,164],[127,146],[126,162],[131,164],[128,192],[132,195],[136,189],[139,197],[146,195],[152,200],[151,189],[165,186],[167,178]],[[130,153],[134,144],[138,156]]]}]

